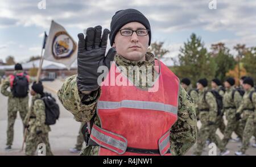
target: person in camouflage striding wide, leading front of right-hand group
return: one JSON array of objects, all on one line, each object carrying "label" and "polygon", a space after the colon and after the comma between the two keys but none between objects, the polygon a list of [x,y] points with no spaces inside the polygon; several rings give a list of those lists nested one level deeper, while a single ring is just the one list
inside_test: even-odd
[{"label": "person in camouflage striding wide, leading front of right-hand group", "polygon": [[216,98],[212,91],[209,91],[207,79],[203,78],[197,81],[197,89],[199,90],[199,99],[197,106],[199,107],[199,119],[201,128],[197,139],[197,147],[193,155],[200,156],[205,147],[205,141],[210,139],[220,149],[220,155],[226,155],[228,152],[223,147],[220,137],[216,134],[216,123],[218,106]]}]

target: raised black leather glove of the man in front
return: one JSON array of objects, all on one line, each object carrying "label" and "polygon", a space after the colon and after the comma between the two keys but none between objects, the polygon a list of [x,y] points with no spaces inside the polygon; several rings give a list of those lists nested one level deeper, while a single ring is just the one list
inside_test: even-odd
[{"label": "raised black leather glove of the man in front", "polygon": [[114,60],[115,49],[110,48],[107,55],[106,45],[108,43],[109,30],[105,29],[101,37],[102,27],[90,27],[86,30],[86,37],[80,33],[77,52],[77,87],[80,91],[94,91],[100,87],[97,82],[99,66],[110,68],[110,61]]}]

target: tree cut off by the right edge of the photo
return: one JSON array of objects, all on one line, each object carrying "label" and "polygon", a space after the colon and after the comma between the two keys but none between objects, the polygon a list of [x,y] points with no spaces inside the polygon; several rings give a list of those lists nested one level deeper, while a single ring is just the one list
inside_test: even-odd
[{"label": "tree cut off by the right edge of the photo", "polygon": [[256,79],[256,47],[247,48],[241,60],[249,76]]}]

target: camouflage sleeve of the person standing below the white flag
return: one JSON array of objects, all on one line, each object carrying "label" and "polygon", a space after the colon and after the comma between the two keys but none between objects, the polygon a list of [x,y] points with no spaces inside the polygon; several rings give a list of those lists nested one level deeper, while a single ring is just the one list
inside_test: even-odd
[{"label": "camouflage sleeve of the person standing below the white flag", "polygon": [[36,115],[35,126],[40,128],[46,122],[46,106],[41,99],[34,102],[34,111]]}]

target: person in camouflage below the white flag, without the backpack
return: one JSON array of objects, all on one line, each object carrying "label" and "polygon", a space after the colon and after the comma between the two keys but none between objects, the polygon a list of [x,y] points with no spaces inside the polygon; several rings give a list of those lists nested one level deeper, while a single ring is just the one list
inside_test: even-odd
[{"label": "person in camouflage below the white flag, without the backpack", "polygon": [[[48,132],[51,128],[46,124],[46,105],[42,99],[44,96],[42,82],[34,82],[30,94],[32,102],[30,112],[26,115],[26,127],[28,134],[26,136],[26,155],[34,155],[38,144],[46,145],[46,156],[52,156],[51,147],[49,145]],[[29,118],[28,118],[29,117]]]}]

